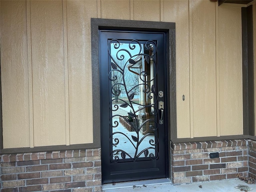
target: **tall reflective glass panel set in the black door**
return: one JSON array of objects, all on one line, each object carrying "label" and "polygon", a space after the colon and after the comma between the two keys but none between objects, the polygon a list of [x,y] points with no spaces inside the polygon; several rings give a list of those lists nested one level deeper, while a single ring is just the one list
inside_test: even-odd
[{"label": "tall reflective glass panel set in the black door", "polygon": [[158,158],[154,41],[110,40],[110,162]]}]

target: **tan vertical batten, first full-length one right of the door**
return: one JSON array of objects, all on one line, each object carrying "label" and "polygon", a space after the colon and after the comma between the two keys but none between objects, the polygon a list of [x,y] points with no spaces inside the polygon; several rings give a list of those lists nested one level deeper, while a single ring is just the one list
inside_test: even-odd
[{"label": "tan vertical batten, first full-length one right of the door", "polygon": [[188,39],[189,39],[189,95],[190,95],[190,138],[194,138],[194,125],[193,125],[193,31],[192,31],[192,5],[188,0]]}]

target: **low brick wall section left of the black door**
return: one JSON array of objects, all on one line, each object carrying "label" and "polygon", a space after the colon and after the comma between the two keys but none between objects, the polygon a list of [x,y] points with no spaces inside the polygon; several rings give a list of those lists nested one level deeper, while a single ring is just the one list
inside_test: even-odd
[{"label": "low brick wall section left of the black door", "polygon": [[100,149],[1,155],[1,192],[100,192]]}]

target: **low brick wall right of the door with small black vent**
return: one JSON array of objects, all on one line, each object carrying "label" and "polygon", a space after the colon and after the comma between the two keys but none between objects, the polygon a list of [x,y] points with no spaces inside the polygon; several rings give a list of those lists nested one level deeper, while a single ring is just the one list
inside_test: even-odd
[{"label": "low brick wall right of the door with small black vent", "polygon": [[[209,158],[212,152],[219,152],[219,158]],[[255,165],[255,148],[253,153]],[[171,173],[173,184],[236,178],[238,173],[248,176],[247,141],[171,144]]]}]

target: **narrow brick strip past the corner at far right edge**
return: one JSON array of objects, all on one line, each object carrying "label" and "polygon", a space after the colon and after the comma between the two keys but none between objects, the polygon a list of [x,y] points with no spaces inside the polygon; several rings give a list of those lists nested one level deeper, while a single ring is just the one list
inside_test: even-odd
[{"label": "narrow brick strip past the corner at far right edge", "polygon": [[248,176],[256,178],[256,141],[248,140]]}]

